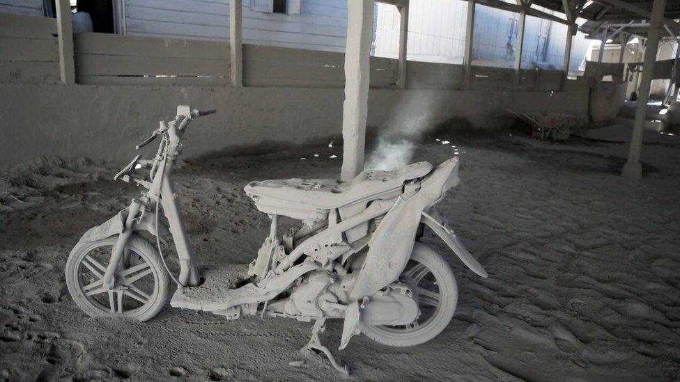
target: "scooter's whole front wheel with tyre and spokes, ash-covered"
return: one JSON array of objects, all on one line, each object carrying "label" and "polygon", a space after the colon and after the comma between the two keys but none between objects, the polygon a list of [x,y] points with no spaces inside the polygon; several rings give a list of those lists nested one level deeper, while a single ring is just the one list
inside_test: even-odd
[{"label": "scooter's whole front wheel with tyre and spokes, ash-covered", "polygon": [[66,285],[73,301],[91,317],[130,317],[146,321],[169,298],[170,279],[156,248],[132,234],[114,285],[104,287],[104,274],[117,237],[79,242],[66,261]]}]

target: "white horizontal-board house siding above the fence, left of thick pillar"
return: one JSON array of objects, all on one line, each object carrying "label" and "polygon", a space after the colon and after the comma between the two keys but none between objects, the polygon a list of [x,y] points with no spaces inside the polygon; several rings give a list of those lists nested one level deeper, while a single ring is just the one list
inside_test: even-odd
[{"label": "white horizontal-board house siding above the fence, left of thick pillar", "polygon": [[[265,13],[243,3],[243,42],[344,51],[347,3],[302,0],[300,14]],[[128,35],[229,40],[229,0],[125,0]]]}]

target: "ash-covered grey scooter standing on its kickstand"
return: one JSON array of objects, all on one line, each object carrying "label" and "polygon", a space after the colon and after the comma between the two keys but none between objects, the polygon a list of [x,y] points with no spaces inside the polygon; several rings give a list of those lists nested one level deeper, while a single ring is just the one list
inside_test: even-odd
[{"label": "ash-covered grey scooter standing on its kickstand", "polygon": [[[394,171],[364,171],[348,182],[251,182],[245,192],[272,219],[269,237],[249,269],[209,270],[201,285],[171,169],[190,122],[214,112],[178,106],[174,120],[160,122],[137,146],[160,136],[155,157],[137,155],[114,177],[144,192],[127,209],[88,230],[68,257],[69,292],[88,315],[146,321],[164,307],[172,278],[178,284],[173,307],[229,319],[316,320],[306,349],[323,351],[334,367],[347,372],[320,344],[326,319],[344,319],[340,349],[358,333],[393,347],[422,344],[451,321],[456,279],[444,258],[419,241],[425,226],[474,273],[487,276],[433,208],[458,184],[454,157],[436,168],[420,162]],[[169,227],[159,219],[161,210]],[[300,228],[279,234],[278,216],[302,221]],[[161,242],[168,234],[179,259],[178,278],[162,255]]]}]

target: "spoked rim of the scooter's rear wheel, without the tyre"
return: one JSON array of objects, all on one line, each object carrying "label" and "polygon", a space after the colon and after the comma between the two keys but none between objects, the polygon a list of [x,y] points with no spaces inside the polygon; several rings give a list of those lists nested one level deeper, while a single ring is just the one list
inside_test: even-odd
[{"label": "spoked rim of the scooter's rear wheel, without the tyre", "polygon": [[373,328],[391,335],[417,335],[426,331],[428,325],[437,321],[442,314],[442,301],[446,299],[439,287],[440,280],[437,278],[437,273],[422,262],[410,260],[406,265],[406,270],[401,273],[400,279],[410,287],[418,303],[418,317],[406,325],[378,325]]}]

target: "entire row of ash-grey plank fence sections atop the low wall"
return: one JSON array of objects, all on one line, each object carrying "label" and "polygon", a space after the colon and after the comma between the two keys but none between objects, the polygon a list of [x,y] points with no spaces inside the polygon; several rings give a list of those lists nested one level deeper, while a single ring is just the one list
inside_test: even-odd
[{"label": "entire row of ash-grey plank fence sections atop the low wall", "polygon": [[[0,13],[0,81],[59,81],[56,20]],[[107,33],[74,35],[76,81],[82,84],[224,86],[229,43]],[[344,54],[244,45],[244,83],[254,87],[342,88]],[[371,57],[371,88],[394,86],[398,61]],[[462,65],[409,61],[410,89],[454,90]],[[472,90],[512,89],[512,69],[472,67]],[[520,91],[559,90],[562,71],[523,70]]]}]

